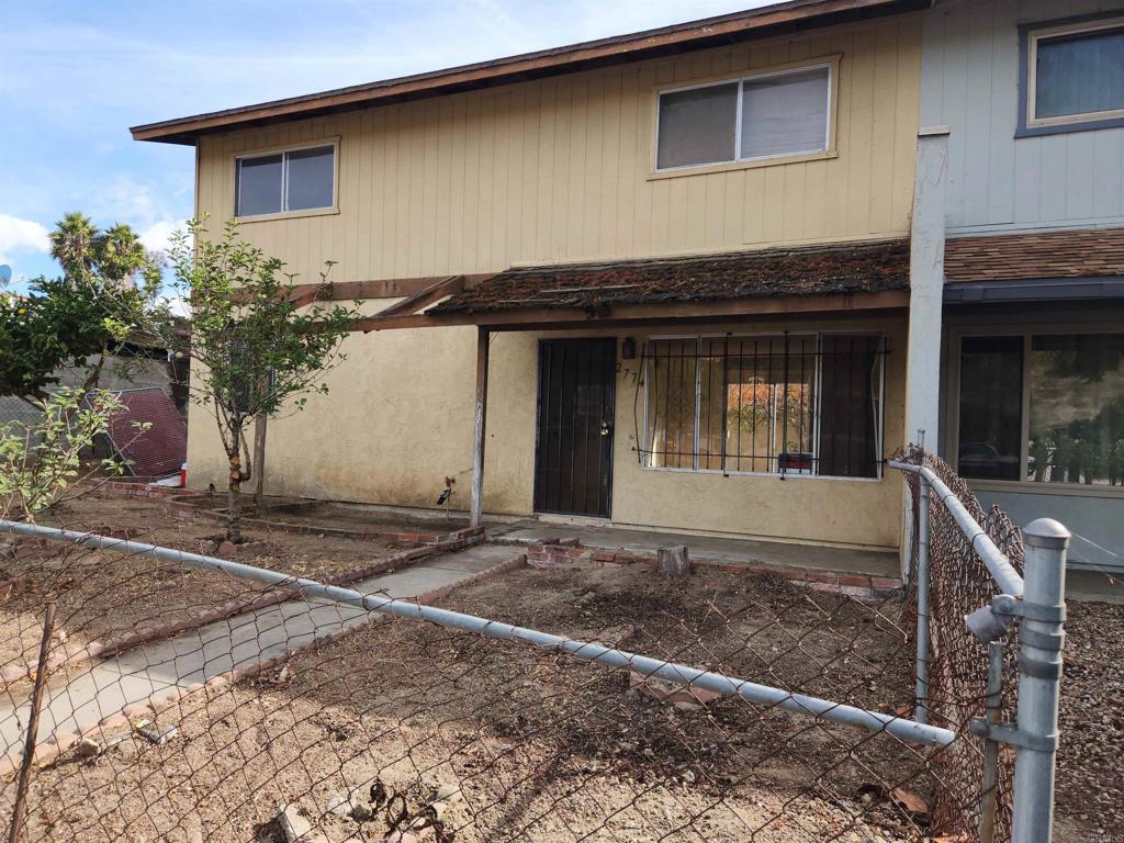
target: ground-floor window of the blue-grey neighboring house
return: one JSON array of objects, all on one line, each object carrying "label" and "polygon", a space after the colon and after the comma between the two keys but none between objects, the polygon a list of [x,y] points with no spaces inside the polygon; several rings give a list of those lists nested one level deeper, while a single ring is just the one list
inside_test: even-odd
[{"label": "ground-floor window of the blue-grey neighboring house", "polygon": [[963,477],[1124,484],[1124,335],[960,338]]}]

